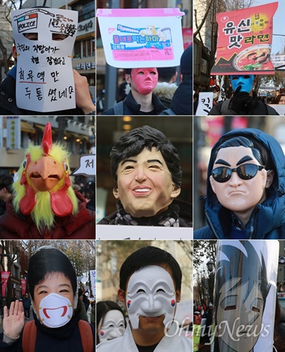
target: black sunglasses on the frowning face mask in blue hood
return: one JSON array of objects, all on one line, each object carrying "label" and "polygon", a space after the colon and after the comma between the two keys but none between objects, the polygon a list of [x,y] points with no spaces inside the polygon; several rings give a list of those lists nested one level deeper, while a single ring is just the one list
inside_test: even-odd
[{"label": "black sunglasses on the frowning face mask in blue hood", "polygon": [[212,177],[215,181],[223,183],[229,181],[232,177],[232,172],[237,172],[237,175],[242,180],[251,180],[257,175],[257,171],[264,169],[264,166],[255,164],[243,164],[235,168],[227,166],[219,166],[212,170]]}]

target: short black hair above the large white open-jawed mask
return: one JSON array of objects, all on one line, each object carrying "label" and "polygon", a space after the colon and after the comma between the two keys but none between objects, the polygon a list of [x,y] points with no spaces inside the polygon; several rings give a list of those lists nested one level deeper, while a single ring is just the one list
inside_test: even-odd
[{"label": "short black hair above the large white open-jawed mask", "polygon": [[175,289],[181,289],[182,271],[177,260],[163,249],[147,246],[138,249],[125,259],[120,267],[120,289],[126,291],[127,282],[135,271],[148,265],[166,264],[172,271],[172,278],[175,281]]}]

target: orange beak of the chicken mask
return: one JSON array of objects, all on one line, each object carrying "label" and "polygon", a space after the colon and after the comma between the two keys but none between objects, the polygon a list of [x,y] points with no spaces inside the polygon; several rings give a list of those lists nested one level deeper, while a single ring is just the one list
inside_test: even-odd
[{"label": "orange beak of the chicken mask", "polygon": [[64,176],[64,170],[56,160],[43,155],[28,166],[27,174],[36,190],[44,192],[51,191],[58,185]]}]

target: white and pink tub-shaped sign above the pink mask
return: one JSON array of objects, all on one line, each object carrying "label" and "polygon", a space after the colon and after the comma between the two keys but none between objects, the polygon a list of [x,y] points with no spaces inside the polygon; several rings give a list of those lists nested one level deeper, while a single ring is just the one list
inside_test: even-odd
[{"label": "white and pink tub-shaped sign above the pink mask", "polygon": [[180,9],[98,9],[105,58],[117,68],[179,66]]}]

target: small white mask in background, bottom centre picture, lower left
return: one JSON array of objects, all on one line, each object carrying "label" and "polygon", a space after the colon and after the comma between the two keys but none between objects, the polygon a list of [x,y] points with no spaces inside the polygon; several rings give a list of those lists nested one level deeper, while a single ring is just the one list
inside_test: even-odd
[{"label": "small white mask in background, bottom centre picture, lower left", "polygon": [[124,332],[125,319],[122,312],[118,311],[118,309],[108,311],[104,319],[100,320],[98,331],[100,342],[123,336]]}]

